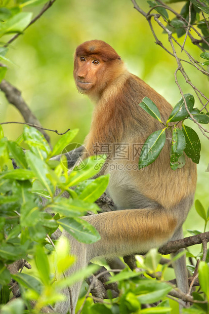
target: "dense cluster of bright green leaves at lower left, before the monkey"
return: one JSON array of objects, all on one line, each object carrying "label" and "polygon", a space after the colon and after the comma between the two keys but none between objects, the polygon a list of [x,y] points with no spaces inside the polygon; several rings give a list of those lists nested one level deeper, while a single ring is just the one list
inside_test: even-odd
[{"label": "dense cluster of bright green leaves at lower left, before the monkey", "polygon": [[[7,265],[32,257],[38,279],[25,273],[12,275],[22,287],[23,295],[26,293],[25,300],[38,300],[38,310],[59,300],[61,295],[55,290],[59,285],[64,287],[67,284],[63,279],[55,288],[51,286],[53,270],[46,255],[50,256],[54,251],[54,244],[47,237],[58,227],[67,230],[82,243],[90,244],[100,239],[97,230],[80,216],[87,211],[97,213],[99,210],[94,202],[105,191],[109,177],[100,176],[95,180],[91,177],[100,171],[105,157],[94,156],[80,161],[80,167],[70,174],[62,161],[53,164],[50,161],[51,156],[61,152],[77,132],[72,130],[64,134],[51,150],[43,134],[32,127],[25,126],[23,135],[16,141],[10,141],[4,137],[0,126],[0,291],[4,294],[1,303],[7,303],[10,297],[7,287],[11,274]],[[23,151],[20,146],[22,141],[28,150]],[[16,169],[10,169],[10,159],[18,165]],[[71,188],[74,185],[76,189]],[[69,195],[69,199],[62,197],[63,192]],[[60,255],[63,260],[57,257],[55,263],[58,274],[74,262],[74,257],[69,255],[69,245],[66,244],[66,247],[66,253]],[[30,305],[27,304],[27,307],[30,308]]]}]

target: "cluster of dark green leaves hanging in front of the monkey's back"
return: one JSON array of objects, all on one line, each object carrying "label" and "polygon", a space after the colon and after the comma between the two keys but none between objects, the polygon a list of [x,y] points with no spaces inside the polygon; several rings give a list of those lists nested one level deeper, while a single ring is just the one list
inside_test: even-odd
[{"label": "cluster of dark green leaves hanging in front of the monkey's back", "polygon": [[[167,129],[172,130],[171,168],[176,170],[177,168],[184,166],[184,152],[194,163],[199,163],[201,150],[199,137],[192,128],[184,124],[184,121],[186,119],[191,119],[189,115],[190,113],[193,119],[198,123],[208,124],[209,115],[200,112],[198,108],[194,108],[193,95],[185,94],[175,105],[169,119],[165,123],[161,121],[160,112],[157,106],[148,97],[144,97],[139,106],[164,126],[162,130],[153,132],[146,139],[139,158],[140,168],[146,167],[156,160],[165,144]],[[181,127],[178,125],[181,125]]]}]

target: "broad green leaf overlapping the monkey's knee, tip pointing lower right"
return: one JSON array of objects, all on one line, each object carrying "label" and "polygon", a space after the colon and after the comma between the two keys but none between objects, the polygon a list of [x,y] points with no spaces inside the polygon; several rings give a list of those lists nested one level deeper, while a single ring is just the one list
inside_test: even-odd
[{"label": "broad green leaf overlapping the monkey's knee, tip pointing lower right", "polygon": [[98,231],[85,220],[62,218],[58,223],[79,242],[91,244],[101,239]]}]

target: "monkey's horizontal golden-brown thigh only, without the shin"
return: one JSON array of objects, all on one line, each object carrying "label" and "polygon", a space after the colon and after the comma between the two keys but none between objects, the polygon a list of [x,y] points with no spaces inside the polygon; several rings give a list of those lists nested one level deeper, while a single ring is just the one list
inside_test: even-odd
[{"label": "monkey's horizontal golden-brown thigh only, without the shin", "polygon": [[176,217],[163,208],[120,210],[82,219],[101,235],[100,241],[87,245],[87,259],[145,253],[168,242],[177,225]]}]

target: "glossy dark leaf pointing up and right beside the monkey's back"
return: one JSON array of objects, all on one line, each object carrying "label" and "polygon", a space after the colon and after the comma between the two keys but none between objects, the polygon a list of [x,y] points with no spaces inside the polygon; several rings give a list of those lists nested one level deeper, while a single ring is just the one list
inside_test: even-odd
[{"label": "glossy dark leaf pointing up and right beside the monkey's back", "polygon": [[[191,111],[192,108],[194,107],[194,96],[191,94],[185,94],[184,98],[186,100],[188,110]],[[187,117],[188,115],[189,115],[189,113],[187,112],[187,110],[185,108],[184,99],[182,97],[179,100],[179,102],[176,104],[174,109],[172,110],[172,113],[170,114],[170,117],[169,117],[167,123],[181,121],[181,120],[185,119],[185,117]]]}]

